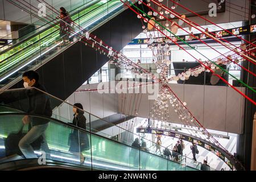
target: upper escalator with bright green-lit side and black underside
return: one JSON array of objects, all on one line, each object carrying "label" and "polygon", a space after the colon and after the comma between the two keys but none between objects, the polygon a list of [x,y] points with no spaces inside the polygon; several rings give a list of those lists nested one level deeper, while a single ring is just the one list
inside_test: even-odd
[{"label": "upper escalator with bright green-lit side and black underside", "polygon": [[[71,17],[80,27],[114,49],[121,50],[142,31],[141,22],[129,10],[123,9],[122,2],[92,2],[95,2],[92,6],[76,11]],[[32,69],[39,73],[40,81],[49,93],[65,100],[108,61],[105,55],[79,41],[59,47],[58,28],[59,24],[56,24],[31,32],[28,38],[16,40],[14,46],[1,52],[2,89],[22,87],[22,73]]]}]

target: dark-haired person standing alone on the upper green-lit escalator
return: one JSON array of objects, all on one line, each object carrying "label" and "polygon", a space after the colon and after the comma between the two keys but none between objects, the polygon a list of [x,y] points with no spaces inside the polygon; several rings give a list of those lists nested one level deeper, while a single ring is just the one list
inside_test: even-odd
[{"label": "dark-haired person standing alone on the upper green-lit escalator", "polygon": [[69,36],[73,31],[73,21],[64,7],[60,7],[60,37],[63,39],[63,45],[69,42]]}]

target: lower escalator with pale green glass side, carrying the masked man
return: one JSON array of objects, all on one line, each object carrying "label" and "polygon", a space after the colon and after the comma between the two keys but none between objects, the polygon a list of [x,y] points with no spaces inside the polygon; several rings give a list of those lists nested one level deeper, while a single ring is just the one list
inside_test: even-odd
[{"label": "lower escalator with pale green glass side, carrying the masked man", "polygon": [[[32,170],[32,169],[72,169],[72,170],[198,170],[201,163],[193,162],[185,156],[180,156],[180,161],[175,162],[173,159],[167,159],[164,156],[156,155],[154,151],[143,151],[138,148],[131,147],[133,140],[129,140],[128,137],[121,140],[115,140],[108,133],[97,131],[92,126],[88,126],[85,129],[73,126],[71,121],[65,118],[61,118],[59,115],[52,115],[51,118],[46,118],[40,115],[29,115],[31,121],[47,119],[49,125],[46,130],[46,143],[49,150],[38,148],[35,150],[35,154],[39,159],[24,159],[20,155],[16,155],[17,146],[10,147],[10,143],[15,143],[15,140],[11,140],[11,135],[18,135],[19,131],[24,135],[28,131],[28,126],[23,126],[22,118],[27,115],[23,111],[20,111],[16,106],[26,107],[27,98],[23,97],[23,94],[30,89],[16,89],[6,90],[0,94],[0,170]],[[46,93],[42,93],[46,94]],[[15,98],[13,102],[10,101],[7,96]],[[4,98],[6,98],[6,101]],[[47,94],[47,97],[52,97]],[[18,100],[16,100],[18,98]],[[52,98],[53,99],[53,98]],[[55,98],[56,99],[56,98]],[[19,103],[19,104],[16,104]],[[73,106],[67,104],[69,109]],[[87,121],[98,121],[98,118],[90,113],[84,111],[84,115]],[[58,119],[56,119],[58,118]],[[103,120],[103,119],[101,119]],[[104,121],[108,122],[108,121]],[[111,123],[109,123],[111,124]],[[113,124],[112,124],[113,125]],[[113,125],[113,127],[118,127]],[[119,128],[121,129],[121,128]],[[123,132],[129,132],[125,129],[121,129]],[[69,140],[69,134],[77,132],[80,137]],[[81,136],[88,136],[89,149],[81,151],[85,156],[85,162],[80,163],[80,158],[69,151],[71,142],[80,143]],[[145,138],[139,137],[139,135],[131,133],[134,137],[143,139],[147,143],[147,146],[154,146],[154,143]],[[23,136],[22,135],[22,136]],[[20,136],[20,135],[18,135]],[[13,137],[14,138],[14,137]],[[19,138],[20,139],[20,138]],[[18,144],[17,144],[18,145]],[[46,151],[46,154],[42,153]],[[6,155],[12,154],[12,155]],[[42,158],[40,156],[42,155]]]}]

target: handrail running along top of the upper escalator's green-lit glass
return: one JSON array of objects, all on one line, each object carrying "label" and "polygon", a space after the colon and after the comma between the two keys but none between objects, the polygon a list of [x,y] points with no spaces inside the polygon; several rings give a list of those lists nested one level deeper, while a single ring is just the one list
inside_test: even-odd
[{"label": "handrail running along top of the upper escalator's green-lit glass", "polygon": [[[98,1],[96,1],[96,2],[94,2],[94,3],[92,3],[90,6],[93,6],[93,5],[95,5],[96,3],[100,2],[100,1],[101,1],[101,0],[98,0]],[[88,3],[88,2],[87,2],[87,3]],[[86,4],[87,4],[87,3],[86,3]],[[86,4],[85,4],[85,5],[86,5]],[[84,5],[81,5],[81,6],[84,6]],[[81,6],[76,7],[76,9],[79,9]],[[73,15],[79,13],[80,11],[84,11],[85,9],[87,9],[87,8],[90,7],[90,6],[86,6],[86,7],[84,7],[83,9],[81,9],[81,10],[79,10],[79,11],[76,11],[75,13],[73,13],[72,15],[69,15],[69,16],[73,16]],[[76,9],[73,9],[73,10],[69,11],[69,13],[71,13],[72,11],[74,11],[74,10],[76,10]],[[28,32],[27,34],[30,34],[31,32],[36,31],[36,30],[38,30],[39,28],[41,28],[41,27],[43,27],[43,26],[46,26],[46,24],[49,24],[49,23],[53,22],[54,20],[56,20],[56,19],[53,19],[53,20],[51,20],[51,21],[49,21],[49,22],[43,24],[42,26],[36,28],[35,30],[32,30],[32,31]],[[57,24],[57,23],[55,23],[55,24]],[[22,40],[21,42],[15,44],[14,46],[12,46],[12,47],[10,47],[10,48],[7,48],[7,49],[5,49],[4,51],[2,51],[2,52],[0,53],[0,55],[2,55],[2,53],[5,53],[6,51],[9,51],[11,48],[14,48],[14,47],[18,46],[19,44],[23,43],[24,41],[30,39],[32,36],[36,36],[36,35],[38,35],[38,34],[41,34],[43,31],[46,31],[46,30],[48,30],[49,28],[55,26],[55,24],[51,24],[51,26],[49,26],[49,27],[47,27],[47,28],[44,28],[43,30],[39,31],[38,33],[33,34],[33,35],[31,35],[31,36],[28,36],[28,38]],[[31,24],[30,24],[30,25],[31,25]],[[27,34],[26,34],[26,35],[27,35]],[[23,36],[26,36],[26,35],[23,35]],[[19,37],[18,39],[23,38],[23,36]],[[14,39],[14,41],[15,41],[15,40],[17,40],[17,39]],[[12,42],[13,42],[13,41],[12,41]],[[5,46],[8,46],[8,45],[9,45],[10,43],[12,43],[12,42],[9,42],[9,43],[3,45],[3,46],[0,47],[0,48],[3,48],[3,47],[5,47]]]}]

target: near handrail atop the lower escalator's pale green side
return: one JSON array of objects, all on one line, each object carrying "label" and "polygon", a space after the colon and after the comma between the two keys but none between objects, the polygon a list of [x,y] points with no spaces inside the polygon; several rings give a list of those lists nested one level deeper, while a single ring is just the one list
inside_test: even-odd
[{"label": "near handrail atop the lower escalator's pale green side", "polygon": [[[136,147],[133,147],[133,146],[129,146],[128,144],[125,144],[125,143],[120,143],[120,142],[118,142],[118,141],[116,141],[116,140],[112,140],[112,139],[110,139],[110,138],[106,138],[106,137],[104,137],[104,136],[102,136],[102,135],[99,135],[99,134],[96,134],[96,133],[92,133],[91,131],[88,131],[88,130],[86,130],[86,129],[82,129],[82,128],[80,128],[80,127],[77,127],[77,126],[75,126],[75,125],[71,125],[71,124],[69,124],[69,123],[65,123],[65,122],[60,121],[60,120],[55,119],[55,118],[46,117],[46,116],[37,115],[37,114],[28,114],[28,113],[0,113],[0,117],[1,117],[2,115],[29,115],[29,116],[31,116],[31,117],[37,117],[37,118],[43,118],[43,119],[51,119],[51,120],[53,120],[53,121],[55,121],[55,122],[57,122],[57,123],[61,123],[61,124],[64,125],[64,126],[72,127],[72,129],[76,129],[76,130],[79,130],[79,131],[84,131],[84,132],[86,132],[86,133],[89,133],[90,135],[96,135],[97,137],[104,138],[104,139],[106,139],[106,140],[110,140],[110,141],[112,141],[112,142],[121,144],[121,145],[123,145],[123,146],[133,148],[134,150],[139,150],[139,152],[143,151],[143,150],[141,150],[141,148],[136,148]],[[1,122],[1,121],[0,121],[0,122]],[[51,122],[51,121],[50,121],[50,122]],[[141,137],[141,138],[142,138],[142,137]],[[176,161],[174,161],[174,160],[170,160],[170,159],[168,159],[168,158],[163,158],[162,156],[156,155],[156,154],[154,154],[154,153],[150,153],[150,152],[148,152],[148,151],[143,151],[143,152],[146,152],[147,154],[154,155],[154,156],[156,156],[156,157],[158,157],[158,158],[166,159],[167,161],[174,162],[174,163],[177,163],[177,164],[182,165],[182,164],[179,163],[179,162],[176,162]],[[185,158],[188,158],[188,157],[185,156]],[[200,164],[200,163],[199,163],[199,164]],[[187,166],[187,165],[185,165],[185,166]],[[189,167],[191,167],[191,166],[189,166]],[[193,167],[191,167],[191,168],[193,168]],[[197,168],[195,168],[195,169],[197,169]]]}]

